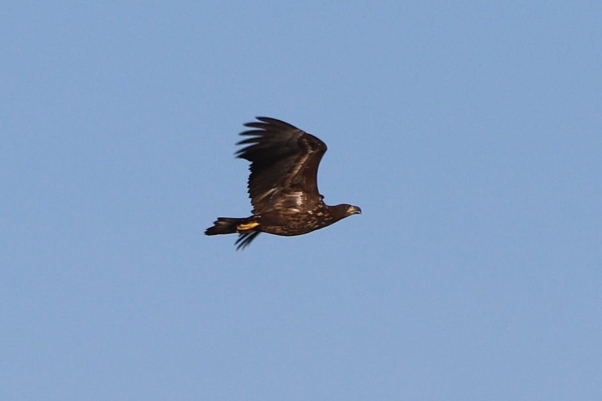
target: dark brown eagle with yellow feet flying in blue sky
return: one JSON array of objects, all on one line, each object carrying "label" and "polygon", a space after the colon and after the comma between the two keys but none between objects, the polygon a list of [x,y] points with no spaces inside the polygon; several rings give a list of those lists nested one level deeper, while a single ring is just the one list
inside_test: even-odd
[{"label": "dark brown eagle with yellow feet flying in blue sky", "polygon": [[329,206],[318,192],[318,165],[326,144],[303,130],[276,118],[256,117],[246,123],[246,145],[235,156],[251,162],[249,198],[252,215],[219,217],[206,235],[238,233],[236,249],[248,246],[259,233],[294,236],[324,228],[362,212],[358,206]]}]

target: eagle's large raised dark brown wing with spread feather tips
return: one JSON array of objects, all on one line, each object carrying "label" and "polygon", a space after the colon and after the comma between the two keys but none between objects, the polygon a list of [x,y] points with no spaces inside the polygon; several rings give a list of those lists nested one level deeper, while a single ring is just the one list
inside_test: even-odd
[{"label": "eagle's large raised dark brown wing with spread feather tips", "polygon": [[271,209],[312,210],[321,202],[318,165],[326,144],[315,136],[275,118],[256,117],[250,136],[237,145],[248,145],[237,157],[251,162],[249,197],[253,213]]}]

